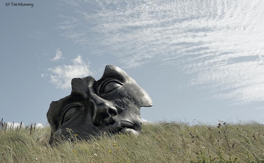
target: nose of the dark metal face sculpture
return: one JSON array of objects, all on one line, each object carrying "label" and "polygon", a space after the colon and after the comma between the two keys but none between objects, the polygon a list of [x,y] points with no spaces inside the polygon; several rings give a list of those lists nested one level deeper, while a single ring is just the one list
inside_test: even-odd
[{"label": "nose of the dark metal face sculpture", "polygon": [[114,117],[117,115],[117,109],[110,104],[107,103],[106,100],[102,99],[101,97],[93,94],[92,98],[90,99],[93,109],[92,109],[92,123],[96,127],[100,126],[101,124],[109,125],[113,123]]}]

